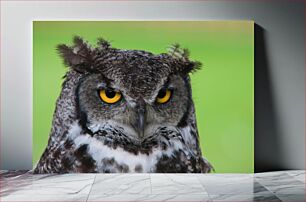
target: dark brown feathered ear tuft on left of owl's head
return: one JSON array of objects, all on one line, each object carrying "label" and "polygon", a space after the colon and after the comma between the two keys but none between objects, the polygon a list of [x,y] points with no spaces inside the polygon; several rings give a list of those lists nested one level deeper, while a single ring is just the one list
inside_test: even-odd
[{"label": "dark brown feathered ear tuft on left of owl's head", "polygon": [[74,45],[69,47],[65,44],[57,46],[57,51],[63,58],[65,65],[78,72],[92,69],[94,50],[79,36],[73,39]]}]

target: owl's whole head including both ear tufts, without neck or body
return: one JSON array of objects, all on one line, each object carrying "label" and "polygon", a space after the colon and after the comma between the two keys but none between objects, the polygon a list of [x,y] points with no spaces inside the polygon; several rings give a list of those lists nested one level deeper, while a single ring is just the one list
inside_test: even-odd
[{"label": "owl's whole head including both ear tufts, without neck or body", "polygon": [[160,128],[187,124],[193,105],[189,73],[200,67],[187,50],[173,45],[156,55],[116,49],[103,39],[91,47],[75,37],[73,46],[59,45],[58,51],[69,71],[81,75],[77,111],[90,133],[117,131],[113,136],[142,141]]}]

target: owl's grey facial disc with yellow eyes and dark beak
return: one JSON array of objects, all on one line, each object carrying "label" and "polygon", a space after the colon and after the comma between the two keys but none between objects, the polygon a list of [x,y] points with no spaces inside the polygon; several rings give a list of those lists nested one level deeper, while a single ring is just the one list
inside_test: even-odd
[{"label": "owl's grey facial disc with yellow eyes and dark beak", "polygon": [[160,127],[179,125],[191,100],[188,78],[159,77],[149,66],[122,74],[89,74],[79,84],[78,106],[92,132],[121,128],[131,140],[141,141]]}]

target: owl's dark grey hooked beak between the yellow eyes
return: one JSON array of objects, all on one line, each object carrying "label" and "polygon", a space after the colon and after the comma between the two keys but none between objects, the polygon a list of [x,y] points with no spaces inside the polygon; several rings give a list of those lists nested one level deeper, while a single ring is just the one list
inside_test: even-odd
[{"label": "owl's dark grey hooked beak between the yellow eyes", "polygon": [[134,127],[138,133],[138,136],[140,139],[144,137],[144,129],[145,129],[145,123],[146,123],[146,104],[141,99],[138,101],[136,107],[136,118],[135,118],[135,124]]}]

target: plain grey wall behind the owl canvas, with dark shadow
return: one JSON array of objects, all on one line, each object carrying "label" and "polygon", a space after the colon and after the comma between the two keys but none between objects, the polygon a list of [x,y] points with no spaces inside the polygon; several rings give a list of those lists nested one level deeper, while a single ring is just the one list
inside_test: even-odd
[{"label": "plain grey wall behind the owl canvas, with dark shadow", "polygon": [[1,169],[32,167],[32,20],[254,20],[256,171],[305,169],[303,1],[1,1]]}]

